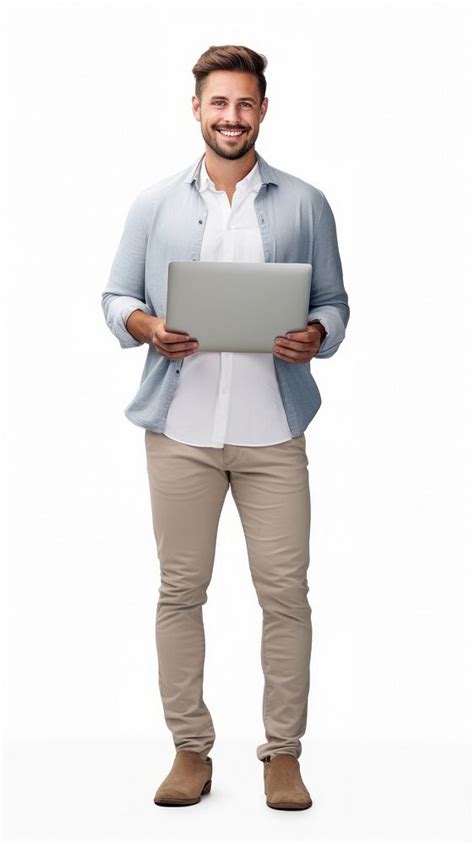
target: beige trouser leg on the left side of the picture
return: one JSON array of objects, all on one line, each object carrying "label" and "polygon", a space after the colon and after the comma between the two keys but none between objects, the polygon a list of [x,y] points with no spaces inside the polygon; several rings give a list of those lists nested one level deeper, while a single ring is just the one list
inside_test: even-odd
[{"label": "beige trouser leg on the left side of the picture", "polygon": [[202,606],[229,486],[219,449],[145,432],[153,529],[160,560],[156,613],[159,687],[176,750],[205,760],[215,732],[203,699]]}]

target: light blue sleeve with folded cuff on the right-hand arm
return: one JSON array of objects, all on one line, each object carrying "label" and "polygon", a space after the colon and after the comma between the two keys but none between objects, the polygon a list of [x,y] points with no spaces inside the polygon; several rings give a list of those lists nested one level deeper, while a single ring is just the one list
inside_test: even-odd
[{"label": "light blue sleeve with folded cuff on the right-hand arm", "polygon": [[336,223],[324,194],[314,240],[308,322],[318,320],[326,331],[314,357],[328,358],[335,354],[345,337],[350,309],[344,289]]}]

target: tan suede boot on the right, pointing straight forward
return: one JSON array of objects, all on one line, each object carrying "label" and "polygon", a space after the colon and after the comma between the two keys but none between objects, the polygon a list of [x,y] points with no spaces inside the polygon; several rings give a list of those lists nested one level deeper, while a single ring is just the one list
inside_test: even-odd
[{"label": "tan suede boot on the right, pointing straight forward", "polygon": [[313,805],[296,756],[281,753],[271,759],[267,757],[263,777],[267,806],[271,809],[309,809]]}]

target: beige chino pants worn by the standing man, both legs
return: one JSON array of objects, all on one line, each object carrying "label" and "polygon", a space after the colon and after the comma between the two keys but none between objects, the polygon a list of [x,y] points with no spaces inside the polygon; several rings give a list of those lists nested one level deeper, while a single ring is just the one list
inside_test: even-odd
[{"label": "beige chino pants worn by the standing man, both legs", "polygon": [[[175,749],[209,754],[215,732],[203,699],[202,606],[229,485],[262,608],[266,741],[257,758],[299,758],[306,730],[312,642],[310,491],[305,435],[269,446],[191,446],[145,431],[160,562],[156,612],[159,690]],[[232,600],[232,595],[226,600]]]}]

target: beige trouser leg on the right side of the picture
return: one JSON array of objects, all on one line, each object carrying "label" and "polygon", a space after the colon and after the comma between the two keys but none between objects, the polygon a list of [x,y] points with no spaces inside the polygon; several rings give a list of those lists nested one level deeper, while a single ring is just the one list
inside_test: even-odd
[{"label": "beige trouser leg on the right side of the picture", "polygon": [[241,448],[232,495],[245,533],[263,610],[261,659],[267,741],[257,757],[301,755],[312,644],[309,566],[310,491],[304,434],[273,446]]}]

